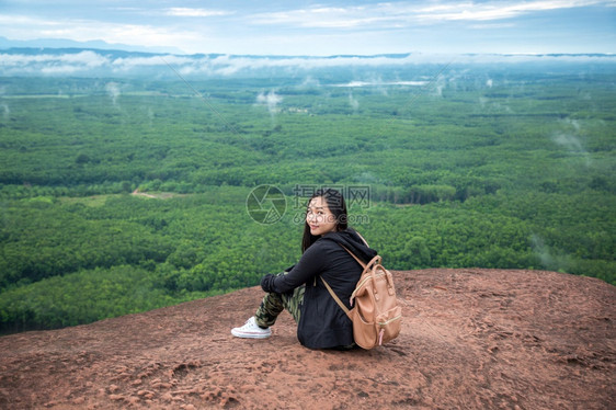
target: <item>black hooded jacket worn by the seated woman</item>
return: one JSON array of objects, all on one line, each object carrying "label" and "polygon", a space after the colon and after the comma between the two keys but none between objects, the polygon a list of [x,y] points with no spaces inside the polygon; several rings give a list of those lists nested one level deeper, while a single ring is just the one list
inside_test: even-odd
[{"label": "black hooded jacket worn by the seated woman", "polygon": [[265,275],[265,292],[287,293],[306,285],[301,315],[297,326],[299,342],[310,349],[345,346],[353,343],[353,323],[323,285],[323,277],[338,297],[351,307],[349,299],[362,275],[362,266],[340,244],[364,262],[377,252],[347,229],[323,235],[310,246],[286,275]]}]

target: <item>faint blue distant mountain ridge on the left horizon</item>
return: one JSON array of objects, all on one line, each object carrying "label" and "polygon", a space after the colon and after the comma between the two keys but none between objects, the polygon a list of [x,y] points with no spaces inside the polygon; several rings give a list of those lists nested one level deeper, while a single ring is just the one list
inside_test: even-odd
[{"label": "faint blue distant mountain ridge on the left horizon", "polygon": [[37,39],[9,39],[0,36],[0,49],[8,48],[94,48],[94,49],[114,49],[124,52],[140,53],[171,53],[185,54],[175,47],[145,47],[132,46],[127,44],[110,44],[102,39],[93,39],[89,42],[76,42],[67,38],[37,38]]}]

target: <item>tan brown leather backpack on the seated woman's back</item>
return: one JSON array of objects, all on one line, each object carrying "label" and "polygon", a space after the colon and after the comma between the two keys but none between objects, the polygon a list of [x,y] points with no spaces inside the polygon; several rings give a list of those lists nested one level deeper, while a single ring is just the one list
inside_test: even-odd
[{"label": "tan brown leather backpack on the seated woman's back", "polygon": [[[374,257],[367,264],[342,247],[364,267],[362,277],[351,295],[351,309],[340,300],[330,285],[321,277],[330,295],[353,321],[353,338],[363,349],[373,349],[393,340],[400,334],[402,308],[396,298],[391,273]],[[355,305],[355,306],[353,306]]]}]

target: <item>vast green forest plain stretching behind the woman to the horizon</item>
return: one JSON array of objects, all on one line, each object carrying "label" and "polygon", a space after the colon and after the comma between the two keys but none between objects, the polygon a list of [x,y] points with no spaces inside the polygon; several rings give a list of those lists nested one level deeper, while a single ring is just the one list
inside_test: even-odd
[{"label": "vast green forest plain stretching behind the woman to the horizon", "polygon": [[[0,78],[0,332],[254,286],[300,257],[326,186],[391,270],[616,284],[613,68]],[[284,193],[280,219],[249,212],[260,185]]]}]

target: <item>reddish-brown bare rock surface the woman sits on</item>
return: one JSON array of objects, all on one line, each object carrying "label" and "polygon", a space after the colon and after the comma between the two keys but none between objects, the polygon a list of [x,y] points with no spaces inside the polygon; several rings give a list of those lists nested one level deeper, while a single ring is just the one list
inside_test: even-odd
[{"label": "reddish-brown bare rock surface the woman sits on", "polygon": [[229,333],[252,287],[139,315],[0,338],[2,409],[615,409],[616,287],[554,272],[395,272],[401,335],[311,351],[283,314]]}]

